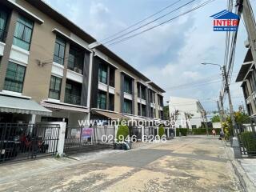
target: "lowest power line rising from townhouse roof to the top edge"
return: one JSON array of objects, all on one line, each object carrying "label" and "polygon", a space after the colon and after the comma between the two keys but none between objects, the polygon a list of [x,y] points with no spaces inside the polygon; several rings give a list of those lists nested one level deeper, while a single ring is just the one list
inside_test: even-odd
[{"label": "lowest power line rising from townhouse roof to the top edge", "polygon": [[166,24],[167,22],[171,22],[171,21],[173,21],[174,19],[179,18],[179,17],[181,17],[181,16],[183,16],[183,15],[185,15],[185,14],[189,14],[190,12],[192,12],[192,11],[194,11],[194,10],[198,10],[198,9],[201,8],[202,6],[206,6],[206,5],[209,4],[210,2],[214,2],[214,1],[215,1],[215,0],[208,0],[208,1],[206,1],[206,2],[203,2],[203,3],[200,4],[199,6],[196,6],[196,7],[194,7],[193,9],[188,10],[188,11],[182,13],[182,14],[178,14],[178,16],[176,16],[176,17],[174,17],[174,18],[170,18],[170,19],[166,20],[165,22],[161,22],[161,23],[158,24],[158,25],[151,26],[150,28],[148,28],[148,29],[146,29],[146,30],[142,30],[141,32],[138,32],[137,34],[133,34],[133,35],[130,35],[130,36],[126,37],[126,38],[122,38],[121,40],[119,40],[119,41],[117,41],[117,42],[111,43],[109,46],[114,46],[114,45],[116,45],[116,44],[118,44],[118,43],[121,43],[121,42],[124,42],[124,41],[126,41],[126,40],[128,40],[128,39],[130,39],[130,38],[134,38],[135,36],[138,36],[139,34],[143,34],[143,33],[145,33],[145,32],[148,31],[148,30],[153,30],[154,28],[156,28],[156,27],[158,27],[158,26],[162,26],[162,25]]}]

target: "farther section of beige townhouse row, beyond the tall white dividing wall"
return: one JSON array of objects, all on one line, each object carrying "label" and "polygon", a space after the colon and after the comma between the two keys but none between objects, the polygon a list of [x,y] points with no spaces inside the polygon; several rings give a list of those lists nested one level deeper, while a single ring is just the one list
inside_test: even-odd
[{"label": "farther section of beige townhouse row, beyond the tall white dividing wall", "polygon": [[92,118],[163,118],[164,90],[104,47],[95,51]]}]

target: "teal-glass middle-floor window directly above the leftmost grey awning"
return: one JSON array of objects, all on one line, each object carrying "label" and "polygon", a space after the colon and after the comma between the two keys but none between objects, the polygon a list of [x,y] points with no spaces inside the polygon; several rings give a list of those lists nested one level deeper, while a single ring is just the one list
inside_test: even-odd
[{"label": "teal-glass middle-floor window directly above the leftmost grey awning", "polygon": [[9,62],[6,70],[4,90],[22,93],[25,71],[25,66],[20,66],[14,62]]}]

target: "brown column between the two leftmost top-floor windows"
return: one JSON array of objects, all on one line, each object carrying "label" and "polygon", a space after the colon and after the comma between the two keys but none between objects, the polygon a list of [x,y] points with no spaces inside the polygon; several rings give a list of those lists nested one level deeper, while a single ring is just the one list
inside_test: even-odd
[{"label": "brown column between the two leftmost top-floor windows", "polygon": [[3,51],[3,56],[0,65],[0,91],[3,90],[5,78],[6,78],[6,70],[9,63],[10,58],[10,50],[13,45],[14,39],[14,31],[16,27],[16,22],[18,19],[18,13],[16,10],[12,10],[10,15],[10,20],[7,26],[7,35],[6,35],[6,46]]}]

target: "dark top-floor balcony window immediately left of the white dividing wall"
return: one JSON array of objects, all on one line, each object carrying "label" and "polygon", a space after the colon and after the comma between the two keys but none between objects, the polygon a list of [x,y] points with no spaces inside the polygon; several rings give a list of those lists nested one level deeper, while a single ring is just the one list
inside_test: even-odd
[{"label": "dark top-floor balcony window immediately left of the white dividing wall", "polygon": [[70,47],[68,69],[82,74],[84,54],[81,50]]}]

